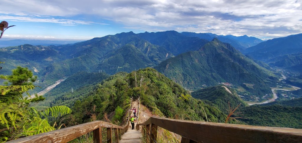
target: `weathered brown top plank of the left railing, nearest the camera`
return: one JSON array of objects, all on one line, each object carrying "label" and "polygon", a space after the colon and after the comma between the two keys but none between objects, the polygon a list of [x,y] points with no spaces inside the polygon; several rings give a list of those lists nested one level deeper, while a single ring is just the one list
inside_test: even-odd
[{"label": "weathered brown top plank of the left railing, nearest the camera", "polygon": [[68,142],[81,135],[87,134],[100,127],[101,121],[88,122],[68,128],[54,130],[38,135],[19,138],[16,140],[8,141],[8,143],[45,143],[45,142]]}]

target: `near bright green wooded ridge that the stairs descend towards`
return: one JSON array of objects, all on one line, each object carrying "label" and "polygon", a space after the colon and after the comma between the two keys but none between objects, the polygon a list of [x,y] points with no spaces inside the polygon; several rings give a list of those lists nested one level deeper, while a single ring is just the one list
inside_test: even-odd
[{"label": "near bright green wooded ridge that the stairs descend towards", "polygon": [[[140,85],[141,78],[143,80]],[[224,122],[226,118],[217,107],[194,99],[180,85],[152,68],[140,69],[129,74],[117,73],[99,84],[81,87],[74,94],[62,96],[58,103],[74,103],[68,106],[72,107],[76,121],[82,123],[90,121],[90,116],[83,112],[91,110],[94,105],[98,119],[103,119],[104,113],[114,112],[117,106],[125,113],[129,108],[130,97],[138,96],[142,104],[159,116],[197,121],[208,119],[212,122]]]}]

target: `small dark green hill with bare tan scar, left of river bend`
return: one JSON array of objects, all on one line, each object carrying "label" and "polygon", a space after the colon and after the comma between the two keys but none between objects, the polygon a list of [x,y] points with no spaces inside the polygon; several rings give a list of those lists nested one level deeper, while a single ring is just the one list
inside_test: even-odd
[{"label": "small dark green hill with bare tan scar, left of river bend", "polygon": [[[229,91],[226,90],[228,88]],[[214,87],[208,87],[204,89],[199,89],[197,91],[192,92],[192,97],[201,99],[201,100],[209,100],[213,103],[220,111],[227,114],[229,110],[229,104],[231,107],[238,106],[241,104],[240,108],[248,106],[230,87],[226,87],[223,85],[218,85]]]}]

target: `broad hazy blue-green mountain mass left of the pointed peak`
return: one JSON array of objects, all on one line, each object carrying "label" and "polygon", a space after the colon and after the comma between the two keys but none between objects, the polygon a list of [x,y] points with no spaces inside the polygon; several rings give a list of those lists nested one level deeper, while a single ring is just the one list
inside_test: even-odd
[{"label": "broad hazy blue-green mountain mass left of the pointed peak", "polygon": [[[208,35],[213,37],[216,34]],[[231,38],[234,40],[234,37]],[[1,52],[5,56],[0,60],[6,62],[3,74],[10,74],[10,70],[16,65],[39,71],[39,85],[43,86],[79,71],[102,70],[114,74],[153,67],[175,55],[196,51],[208,42],[176,31],[138,34],[128,32],[67,45],[25,44],[22,45],[23,49],[21,46],[2,48]]]}]

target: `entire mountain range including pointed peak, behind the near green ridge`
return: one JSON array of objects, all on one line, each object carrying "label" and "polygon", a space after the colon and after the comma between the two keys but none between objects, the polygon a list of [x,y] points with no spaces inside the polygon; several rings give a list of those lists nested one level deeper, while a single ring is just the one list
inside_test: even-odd
[{"label": "entire mountain range including pointed peak, behind the near green ridge", "polygon": [[[212,37],[216,38],[209,41]],[[5,62],[1,74],[10,74],[16,65],[27,66],[40,77],[39,85],[45,86],[80,71],[112,75],[155,67],[173,81],[192,89],[228,82],[235,86],[238,94],[245,95],[246,100],[262,100],[259,98],[271,94],[269,87],[278,82],[277,77],[259,66],[260,62],[255,63],[241,54],[234,48],[236,44],[219,40],[223,38],[236,41],[244,49],[262,42],[246,35],[165,31],[118,33],[59,46],[24,44],[0,49],[5,55],[0,57],[0,61]],[[258,45],[267,42],[270,41]]]}]

